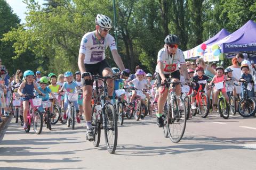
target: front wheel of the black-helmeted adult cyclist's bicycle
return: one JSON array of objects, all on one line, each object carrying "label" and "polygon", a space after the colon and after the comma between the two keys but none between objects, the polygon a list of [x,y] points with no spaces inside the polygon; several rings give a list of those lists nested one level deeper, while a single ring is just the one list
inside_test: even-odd
[{"label": "front wheel of the black-helmeted adult cyclist's bicycle", "polygon": [[172,142],[178,143],[183,137],[186,129],[186,117],[187,114],[184,100],[180,96],[175,96],[172,106],[169,107],[167,116],[168,134]]}]

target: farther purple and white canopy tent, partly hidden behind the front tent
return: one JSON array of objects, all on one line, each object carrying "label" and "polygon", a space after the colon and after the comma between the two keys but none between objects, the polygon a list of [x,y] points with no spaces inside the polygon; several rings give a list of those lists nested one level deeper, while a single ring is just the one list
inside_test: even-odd
[{"label": "farther purple and white canopy tent, partly hidden behind the front tent", "polygon": [[[230,35],[230,33],[226,30],[226,29],[221,29],[215,36],[213,36],[212,38],[204,41],[204,44],[208,45],[212,45],[215,42],[221,40],[224,37],[227,37],[228,35]],[[203,43],[202,43],[203,44]],[[187,50],[185,52],[183,52],[183,54],[185,55],[185,59],[196,59],[199,56],[202,56],[203,53],[201,52],[197,52],[197,49],[201,47],[201,45],[198,45],[190,50]]]}]

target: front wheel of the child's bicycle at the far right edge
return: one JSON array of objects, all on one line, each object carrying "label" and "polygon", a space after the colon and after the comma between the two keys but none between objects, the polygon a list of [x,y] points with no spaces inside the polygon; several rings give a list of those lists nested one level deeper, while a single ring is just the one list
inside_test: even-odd
[{"label": "front wheel of the child's bicycle at the far right edge", "polygon": [[[245,103],[244,104],[245,106],[242,106],[243,103]],[[251,104],[253,104],[253,106]],[[241,115],[243,117],[250,117],[250,116],[254,115],[254,113],[255,113],[255,110],[256,110],[255,106],[256,106],[256,102],[255,102],[254,99],[252,99],[252,98],[246,98],[246,99],[243,98],[242,100],[239,101],[238,113],[239,113],[239,115]],[[245,111],[243,111],[242,107],[248,109],[248,114],[245,114]],[[254,108],[254,109],[252,109],[252,108]]]}]

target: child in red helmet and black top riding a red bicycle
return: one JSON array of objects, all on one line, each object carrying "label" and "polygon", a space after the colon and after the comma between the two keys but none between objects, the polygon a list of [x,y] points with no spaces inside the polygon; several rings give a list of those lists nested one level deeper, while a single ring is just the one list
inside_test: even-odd
[{"label": "child in red helmet and black top riding a red bicycle", "polygon": [[[204,75],[204,68],[201,66],[198,66],[196,67],[196,75],[191,79],[193,79],[195,82],[195,88],[194,88],[194,92],[192,94],[192,99],[191,99],[191,109],[195,110],[196,109],[195,96],[200,87],[200,84],[198,83],[198,81],[209,80],[209,77]],[[205,89],[205,85],[206,84],[201,84],[202,90]]]}]

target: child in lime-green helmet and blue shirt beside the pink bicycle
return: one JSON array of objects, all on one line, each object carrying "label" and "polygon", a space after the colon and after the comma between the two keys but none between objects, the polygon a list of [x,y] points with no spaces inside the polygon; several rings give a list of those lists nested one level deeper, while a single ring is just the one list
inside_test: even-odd
[{"label": "child in lime-green helmet and blue shirt beside the pink bicycle", "polygon": [[[53,100],[55,100],[55,96],[54,96],[54,94],[52,94],[52,90],[48,87],[48,83],[49,83],[49,79],[45,76],[40,78],[40,80],[39,80],[40,87],[38,87],[38,89],[44,94],[44,96],[38,95],[38,92],[36,92],[36,95],[38,95],[37,98],[41,98],[42,101],[50,100],[50,95],[53,97]],[[51,117],[55,117],[56,114],[53,114],[52,105],[49,109],[50,109]],[[41,112],[44,112],[44,109],[43,109],[42,106],[39,107],[38,110],[41,111]]]}]

